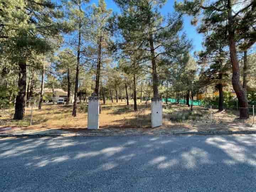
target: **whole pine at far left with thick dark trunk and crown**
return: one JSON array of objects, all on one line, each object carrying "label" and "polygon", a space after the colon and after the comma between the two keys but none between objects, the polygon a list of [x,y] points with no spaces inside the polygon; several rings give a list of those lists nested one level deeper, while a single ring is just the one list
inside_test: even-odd
[{"label": "whole pine at far left with thick dark trunk and crown", "polygon": [[59,32],[65,30],[58,21],[62,13],[57,7],[47,0],[1,1],[1,54],[19,68],[14,119],[23,119],[25,113],[27,63],[33,55],[51,50],[57,42],[49,37],[59,38]]}]

